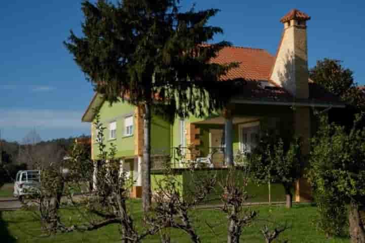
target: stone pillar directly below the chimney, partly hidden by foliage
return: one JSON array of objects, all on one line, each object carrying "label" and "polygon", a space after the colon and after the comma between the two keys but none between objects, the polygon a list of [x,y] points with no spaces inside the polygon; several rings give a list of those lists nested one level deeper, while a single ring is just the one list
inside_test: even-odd
[{"label": "stone pillar directly below the chimney, partly hidden by foliage", "polygon": [[[308,166],[308,155],[310,152],[311,138],[311,110],[310,107],[295,107],[294,110],[294,131],[295,136],[301,139],[303,161],[301,165],[301,173]],[[296,201],[311,201],[312,190],[305,178],[301,178],[296,182]]]}]

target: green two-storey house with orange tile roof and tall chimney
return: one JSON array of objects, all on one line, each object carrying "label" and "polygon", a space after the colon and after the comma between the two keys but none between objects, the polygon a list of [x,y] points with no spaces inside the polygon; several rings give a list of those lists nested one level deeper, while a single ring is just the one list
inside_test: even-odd
[{"label": "green two-storey house with orange tile roof and tall chimney", "polygon": [[[242,92],[231,98],[223,112],[204,118],[191,116],[170,121],[153,114],[152,156],[173,157],[171,148],[193,144],[198,152],[188,155],[190,159],[203,161],[210,156],[213,167],[225,167],[239,151],[250,151],[257,145],[260,134],[267,130],[275,131],[283,138],[301,137],[303,153],[308,154],[309,138],[315,131],[313,108],[344,107],[336,97],[308,78],[309,20],[307,14],[296,9],[280,19],[283,30],[275,56],[263,49],[227,47],[221,50],[213,62],[240,63],[222,78],[222,82],[243,79]],[[100,94],[94,95],[82,120],[91,123],[91,149],[95,160],[98,152],[92,124],[95,108],[99,109],[101,122],[107,128],[106,144],[117,145],[116,156],[120,158],[123,170],[136,178],[134,196],[137,196],[141,186],[142,109],[126,102],[110,106]],[[179,163],[174,166],[181,167]],[[299,180],[296,200],[309,198],[305,181]]]}]

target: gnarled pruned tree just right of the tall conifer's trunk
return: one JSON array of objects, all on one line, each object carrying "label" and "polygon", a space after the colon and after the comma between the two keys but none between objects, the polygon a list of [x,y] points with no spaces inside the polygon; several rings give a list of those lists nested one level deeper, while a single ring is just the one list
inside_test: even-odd
[{"label": "gnarled pruned tree just right of the tall conifer's trunk", "polygon": [[[181,151],[178,154],[182,154]],[[175,159],[181,159],[177,157]],[[195,230],[191,218],[191,211],[204,203],[208,195],[214,191],[216,174],[213,170],[199,173],[194,161],[186,160],[188,173],[190,174],[190,191],[185,189],[182,194],[182,182],[178,179],[177,173],[171,169],[171,161],[167,159],[162,180],[156,181],[156,188],[153,194],[155,204],[151,208],[151,214],[147,217],[147,223],[152,227],[160,229],[175,228],[187,233],[192,242],[201,242]],[[185,185],[186,186],[186,185]],[[170,235],[167,231],[161,234],[164,243],[170,242]]]}]

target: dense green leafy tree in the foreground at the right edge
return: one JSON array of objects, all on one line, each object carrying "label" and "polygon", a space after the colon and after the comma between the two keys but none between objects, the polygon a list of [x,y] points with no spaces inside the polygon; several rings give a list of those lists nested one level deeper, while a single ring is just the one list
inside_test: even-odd
[{"label": "dense green leafy tree in the foreground at the right edge", "polygon": [[[329,124],[327,117],[321,118],[320,129],[312,140],[308,172],[315,193],[330,198],[319,205],[330,207],[328,223],[333,222],[332,218],[338,220],[334,213],[343,212],[343,206],[348,205],[349,233],[354,243],[365,242],[359,213],[365,199],[365,129],[357,129],[361,117],[356,116],[349,133],[344,127]],[[335,199],[334,202],[331,198]],[[334,207],[336,205],[339,206]],[[329,213],[329,210],[322,212]]]}]

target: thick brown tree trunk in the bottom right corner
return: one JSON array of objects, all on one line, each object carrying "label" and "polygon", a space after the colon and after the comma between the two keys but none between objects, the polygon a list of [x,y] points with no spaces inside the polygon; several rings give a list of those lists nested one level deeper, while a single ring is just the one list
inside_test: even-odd
[{"label": "thick brown tree trunk in the bottom right corner", "polygon": [[358,204],[351,200],[349,207],[349,232],[352,243],[365,243],[365,231]]}]

